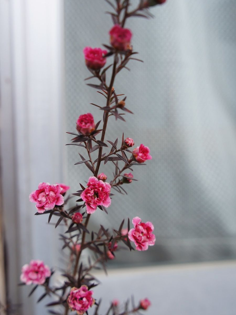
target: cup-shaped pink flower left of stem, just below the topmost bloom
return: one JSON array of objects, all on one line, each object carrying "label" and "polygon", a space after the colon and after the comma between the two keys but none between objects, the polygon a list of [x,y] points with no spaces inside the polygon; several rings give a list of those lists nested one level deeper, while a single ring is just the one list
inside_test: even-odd
[{"label": "cup-shaped pink flower left of stem, just below the topmost bloom", "polygon": [[107,53],[107,51],[104,49],[102,50],[101,48],[85,47],[83,49],[83,53],[86,66],[90,69],[99,70],[106,63],[106,58],[104,58],[104,55]]}]

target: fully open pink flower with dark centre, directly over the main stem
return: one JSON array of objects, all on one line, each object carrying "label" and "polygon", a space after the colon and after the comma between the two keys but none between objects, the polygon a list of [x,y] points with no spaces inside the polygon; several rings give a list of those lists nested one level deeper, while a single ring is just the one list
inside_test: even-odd
[{"label": "fully open pink flower with dark centre, directly over the main stem", "polygon": [[95,176],[88,179],[87,188],[81,193],[81,198],[86,204],[87,213],[91,214],[96,211],[97,206],[109,207],[111,199],[109,197],[111,185],[98,180]]}]

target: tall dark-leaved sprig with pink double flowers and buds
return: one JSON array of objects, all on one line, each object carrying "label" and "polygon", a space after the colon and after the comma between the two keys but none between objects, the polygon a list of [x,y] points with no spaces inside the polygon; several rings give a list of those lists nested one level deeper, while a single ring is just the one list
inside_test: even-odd
[{"label": "tall dark-leaved sprig with pink double flowers and buds", "polygon": [[[127,227],[124,228],[123,220],[119,227],[112,232],[100,225],[98,231],[89,231],[88,222],[90,216],[98,209],[108,213],[107,208],[112,204],[111,189],[119,193],[126,193],[123,188],[125,184],[131,184],[134,179],[132,167],[143,165],[151,160],[150,150],[147,146],[140,144],[132,148],[135,143],[130,137],[121,137],[121,144],[118,146],[118,138],[113,142],[105,139],[109,118],[115,117],[125,121],[123,115],[132,113],[126,107],[126,96],[117,94],[114,83],[116,75],[124,68],[130,60],[142,61],[134,58],[137,52],[132,48],[132,31],[125,28],[126,20],[130,17],[152,16],[148,8],[150,6],[164,3],[165,0],[140,0],[138,7],[132,11],[130,0],[105,0],[112,7],[114,12],[111,15],[114,26],[110,29],[110,45],[104,44],[105,49],[92,48],[90,46],[83,49],[85,65],[92,73],[92,76],[85,80],[97,79],[99,84],[88,83],[87,85],[97,89],[98,93],[105,98],[104,106],[91,103],[103,112],[100,121],[94,121],[91,113],[80,113],[76,121],[77,133],[68,132],[73,135],[71,143],[68,145],[78,146],[81,160],[76,164],[85,164],[92,173],[87,179],[87,187],[80,184],[80,188],[72,195],[79,197],[76,206],[68,207],[67,202],[70,197],[65,198],[69,186],[65,184],[40,183],[38,189],[30,194],[30,201],[36,203],[36,215],[49,214],[48,223],[52,217],[58,217],[55,224],[64,224],[66,230],[60,234],[63,242],[62,249],[67,249],[70,253],[67,268],[62,276],[65,281],[60,286],[51,285],[53,270],[50,270],[44,262],[32,260],[30,264],[22,267],[21,284],[34,284],[31,295],[38,286],[44,288],[44,293],[38,299],[41,301],[47,295],[54,295],[56,300],[47,304],[49,313],[67,315],[70,310],[77,314],[87,313],[93,306],[93,314],[98,315],[98,308],[101,301],[97,301],[93,294],[93,287],[98,285],[97,280],[91,274],[94,268],[103,267],[106,271],[106,261],[115,259],[115,252],[121,248],[120,243],[125,244],[130,250],[135,248],[139,251],[147,250],[149,246],[155,244],[154,226],[151,222],[142,222],[136,216],[132,219],[133,228],[130,228],[129,219]],[[105,66],[109,57],[113,57],[113,62]],[[112,68],[112,73],[107,80],[107,70]],[[122,96],[122,98],[120,98]],[[100,123],[103,121],[103,126]],[[110,148],[109,148],[109,145]],[[105,153],[104,148],[109,148],[109,153]],[[84,153],[82,152],[84,151]],[[94,152],[97,157],[94,158]],[[84,157],[83,155],[87,157]],[[113,178],[108,180],[104,173],[99,174],[101,163],[108,163],[115,168]],[[119,164],[120,163],[120,164]],[[131,244],[134,243],[134,245]],[[89,249],[92,254],[88,257],[88,263],[82,262],[81,253],[84,249]],[[146,298],[135,306],[132,300],[131,308],[128,301],[124,310],[120,310],[119,301],[113,300],[107,311],[107,315],[126,315],[139,310],[146,310],[150,306],[150,301]],[[56,307],[55,310],[52,307]]]}]

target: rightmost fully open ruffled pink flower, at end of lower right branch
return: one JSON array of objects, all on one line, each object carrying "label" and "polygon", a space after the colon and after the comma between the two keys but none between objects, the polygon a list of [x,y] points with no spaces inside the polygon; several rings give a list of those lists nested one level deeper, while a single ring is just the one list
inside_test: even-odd
[{"label": "rightmost fully open ruffled pink flower, at end of lower right branch", "polygon": [[137,250],[147,250],[148,246],[155,244],[155,235],[152,233],[154,226],[151,222],[141,223],[139,217],[132,220],[134,228],[129,230],[128,238],[135,243]]}]

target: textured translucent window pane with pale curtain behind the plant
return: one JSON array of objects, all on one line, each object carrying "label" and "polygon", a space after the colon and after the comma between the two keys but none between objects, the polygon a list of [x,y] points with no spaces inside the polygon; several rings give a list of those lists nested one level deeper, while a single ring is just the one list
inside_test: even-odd
[{"label": "textured translucent window pane with pale curtain behind the plant", "polygon": [[[109,42],[112,21],[106,10],[102,0],[65,0],[67,131],[75,131],[83,113],[102,118],[89,104],[104,106],[105,99],[84,81],[90,73],[82,49]],[[115,90],[127,95],[134,115],[127,114],[126,123],[111,117],[106,140],[121,140],[124,131],[136,146],[149,146],[153,159],[134,167],[139,181],[126,185],[128,196],[115,192],[109,215],[96,211],[94,225],[117,228],[136,215],[153,221],[157,245],[145,255],[127,254],[126,261],[235,257],[236,2],[168,0],[151,12],[154,19],[132,18],[126,25],[144,63],[130,62],[131,72],[116,78]],[[76,191],[90,173],[73,165],[79,161],[76,146],[66,150]],[[102,165],[108,180],[113,170],[111,162]]]}]

